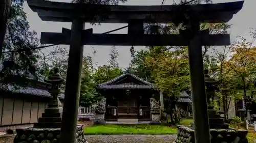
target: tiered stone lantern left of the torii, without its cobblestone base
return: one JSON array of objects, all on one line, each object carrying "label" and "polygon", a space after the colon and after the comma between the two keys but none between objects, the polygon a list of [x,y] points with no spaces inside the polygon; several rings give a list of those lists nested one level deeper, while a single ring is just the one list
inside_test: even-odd
[{"label": "tiered stone lantern left of the torii, without its cobblestone base", "polygon": [[59,74],[59,69],[54,69],[54,74],[45,80],[51,86],[49,92],[52,95],[52,99],[48,104],[48,108],[42,113],[42,117],[38,119],[38,123],[34,124],[34,127],[61,127],[61,117],[62,117],[62,106],[59,101],[60,86],[64,79]]}]

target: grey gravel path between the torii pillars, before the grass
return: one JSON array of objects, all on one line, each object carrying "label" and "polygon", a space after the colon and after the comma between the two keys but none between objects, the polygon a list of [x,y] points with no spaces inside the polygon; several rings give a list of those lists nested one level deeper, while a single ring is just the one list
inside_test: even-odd
[{"label": "grey gravel path between the torii pillars, before the grass", "polygon": [[172,143],[176,135],[86,135],[89,143]]}]

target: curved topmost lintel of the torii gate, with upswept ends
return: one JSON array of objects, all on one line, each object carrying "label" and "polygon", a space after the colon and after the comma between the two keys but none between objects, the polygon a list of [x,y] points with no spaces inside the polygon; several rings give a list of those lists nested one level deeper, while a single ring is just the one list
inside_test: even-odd
[{"label": "curved topmost lintel of the torii gate, with upswept ends", "polygon": [[[233,14],[243,7],[244,1],[170,6],[110,6],[45,2],[27,0],[29,7],[44,21],[71,22],[81,18],[84,22],[99,22],[95,15],[101,15],[102,23],[127,23],[131,19],[154,23],[182,22],[184,13],[197,13],[202,23],[228,22]],[[156,18],[157,17],[157,18]]]}]

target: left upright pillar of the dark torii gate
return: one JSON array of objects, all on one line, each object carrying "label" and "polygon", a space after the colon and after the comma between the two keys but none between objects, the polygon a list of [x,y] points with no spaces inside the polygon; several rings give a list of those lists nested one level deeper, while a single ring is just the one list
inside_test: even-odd
[{"label": "left upright pillar of the dark torii gate", "polygon": [[60,134],[61,143],[76,142],[76,126],[83,58],[83,44],[81,42],[83,30],[84,22],[82,20],[75,19],[72,21],[67,81]]}]

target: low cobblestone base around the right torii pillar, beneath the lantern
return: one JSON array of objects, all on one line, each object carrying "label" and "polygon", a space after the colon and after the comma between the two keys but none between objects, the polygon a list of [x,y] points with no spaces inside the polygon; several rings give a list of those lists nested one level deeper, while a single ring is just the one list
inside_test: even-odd
[{"label": "low cobblestone base around the right torii pillar, beneath the lantern", "polygon": [[[178,125],[176,143],[195,143],[194,130]],[[236,129],[210,129],[211,143],[248,143],[246,138],[248,131]]]}]

